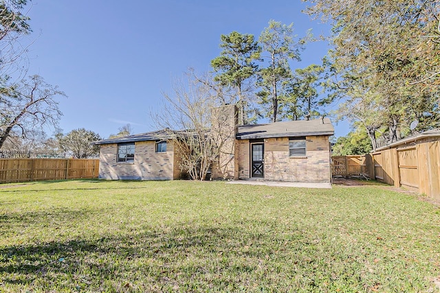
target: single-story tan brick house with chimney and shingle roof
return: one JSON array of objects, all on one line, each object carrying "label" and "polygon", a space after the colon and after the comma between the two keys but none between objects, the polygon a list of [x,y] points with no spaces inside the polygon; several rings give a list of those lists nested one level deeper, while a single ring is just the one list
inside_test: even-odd
[{"label": "single-story tan brick house with chimney and shingle roof", "polygon": [[[221,107],[231,135],[212,166],[211,178],[331,182],[329,137],[325,119],[238,126],[236,106]],[[216,131],[213,123],[212,131]],[[100,178],[173,180],[180,178],[179,154],[164,130],[96,142],[100,145]],[[177,148],[176,148],[177,150]]]}]

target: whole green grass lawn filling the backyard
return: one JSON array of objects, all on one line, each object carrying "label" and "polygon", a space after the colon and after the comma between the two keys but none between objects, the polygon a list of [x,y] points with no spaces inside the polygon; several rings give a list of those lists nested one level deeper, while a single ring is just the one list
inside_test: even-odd
[{"label": "whole green grass lawn filling the backyard", "polygon": [[0,292],[436,292],[440,209],[384,186],[0,185]]}]

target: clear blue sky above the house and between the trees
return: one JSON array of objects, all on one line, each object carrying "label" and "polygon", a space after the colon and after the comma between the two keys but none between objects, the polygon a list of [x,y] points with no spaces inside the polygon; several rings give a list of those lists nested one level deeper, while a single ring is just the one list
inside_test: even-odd
[{"label": "clear blue sky above the house and between the trees", "polygon": [[[311,21],[300,0],[60,1],[28,5],[33,33],[29,74],[39,74],[67,94],[61,98],[64,133],[86,128],[107,138],[124,124],[134,133],[154,130],[149,113],[162,93],[188,69],[210,71],[220,35],[259,34],[270,19],[294,23],[295,33],[328,34]],[[320,63],[325,43],[310,43],[292,69]],[[336,125],[336,136],[349,131]]]}]

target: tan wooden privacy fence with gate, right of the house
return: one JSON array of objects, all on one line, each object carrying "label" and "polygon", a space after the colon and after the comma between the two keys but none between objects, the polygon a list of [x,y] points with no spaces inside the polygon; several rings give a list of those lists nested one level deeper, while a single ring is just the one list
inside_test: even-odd
[{"label": "tan wooden privacy fence with gate, right of the house", "polygon": [[440,141],[390,148],[362,156],[332,156],[333,176],[366,174],[440,200]]}]

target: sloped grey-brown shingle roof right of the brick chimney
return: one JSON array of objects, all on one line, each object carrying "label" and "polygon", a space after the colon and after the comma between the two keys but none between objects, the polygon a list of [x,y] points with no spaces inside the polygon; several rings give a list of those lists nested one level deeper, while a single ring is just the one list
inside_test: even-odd
[{"label": "sloped grey-brown shingle roof right of the brick chimney", "polygon": [[325,118],[324,121],[314,119],[239,126],[236,138],[305,137],[309,135],[333,135],[334,132],[330,119]]}]

